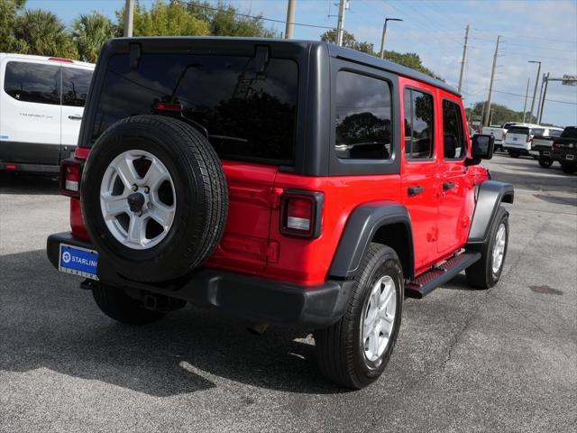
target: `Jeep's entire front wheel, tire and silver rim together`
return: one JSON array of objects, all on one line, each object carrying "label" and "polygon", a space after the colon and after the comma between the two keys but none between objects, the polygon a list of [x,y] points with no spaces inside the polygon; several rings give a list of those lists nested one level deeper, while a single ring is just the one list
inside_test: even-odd
[{"label": "Jeep's entire front wheel, tire and silver rim together", "polygon": [[489,231],[489,240],[481,247],[481,259],[469,266],[467,281],[478,289],[489,289],[499,282],[508,247],[508,212],[499,206]]}]

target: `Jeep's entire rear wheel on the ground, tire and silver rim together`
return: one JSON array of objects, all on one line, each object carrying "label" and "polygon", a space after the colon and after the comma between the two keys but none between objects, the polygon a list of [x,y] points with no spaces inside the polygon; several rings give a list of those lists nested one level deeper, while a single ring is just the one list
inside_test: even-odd
[{"label": "Jeep's entire rear wheel on the ground, tire and silver rim together", "polygon": [[328,379],[361,389],[380,377],[397,340],[403,290],[397,253],[371,244],[343,318],[315,331],[318,362]]}]

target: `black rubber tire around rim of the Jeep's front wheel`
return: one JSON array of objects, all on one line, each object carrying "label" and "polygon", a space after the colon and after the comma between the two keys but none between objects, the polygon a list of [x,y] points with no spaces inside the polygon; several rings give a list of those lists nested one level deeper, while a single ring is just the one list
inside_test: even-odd
[{"label": "black rubber tire around rim of the Jeep's front wheel", "polygon": [[[496,236],[499,231],[499,226],[505,226],[505,251],[503,252],[503,259],[500,263],[499,270],[493,272],[492,270],[492,252],[497,241]],[[483,244],[481,247],[481,259],[478,262],[469,266],[465,273],[467,281],[477,289],[489,289],[493,287],[501,278],[503,272],[503,265],[507,257],[508,248],[508,212],[499,206],[497,215],[493,219],[489,230],[489,242]]]}]

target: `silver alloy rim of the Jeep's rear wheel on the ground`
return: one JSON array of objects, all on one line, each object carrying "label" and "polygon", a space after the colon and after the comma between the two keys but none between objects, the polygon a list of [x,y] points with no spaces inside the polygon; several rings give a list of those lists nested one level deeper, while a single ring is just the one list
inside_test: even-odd
[{"label": "silver alloy rim of the Jeep's rear wheel on the ground", "polygon": [[365,357],[371,362],[377,361],[389,344],[396,308],[396,284],[389,275],[385,275],[372,286],[362,312],[362,346]]}]

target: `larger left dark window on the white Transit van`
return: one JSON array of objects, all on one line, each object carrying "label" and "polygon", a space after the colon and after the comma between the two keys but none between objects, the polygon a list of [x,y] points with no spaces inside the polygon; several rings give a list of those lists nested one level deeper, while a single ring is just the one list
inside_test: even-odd
[{"label": "larger left dark window on the white Transit van", "polygon": [[9,61],[4,90],[19,101],[60,105],[60,66]]}]

